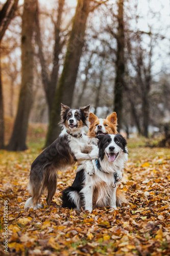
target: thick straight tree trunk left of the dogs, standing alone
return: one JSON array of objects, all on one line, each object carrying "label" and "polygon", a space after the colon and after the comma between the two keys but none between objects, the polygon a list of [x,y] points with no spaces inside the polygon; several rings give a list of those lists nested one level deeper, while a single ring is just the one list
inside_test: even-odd
[{"label": "thick straight tree trunk left of the dogs, standing alone", "polygon": [[8,145],[10,151],[27,149],[26,137],[33,90],[34,48],[32,38],[35,27],[35,10],[36,3],[25,0],[21,32],[21,89],[14,128]]}]

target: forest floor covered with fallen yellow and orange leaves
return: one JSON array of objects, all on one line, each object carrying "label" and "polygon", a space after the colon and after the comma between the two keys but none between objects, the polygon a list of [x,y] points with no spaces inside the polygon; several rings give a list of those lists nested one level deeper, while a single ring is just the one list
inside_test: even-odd
[{"label": "forest floor covered with fallen yellow and orange leaves", "polygon": [[43,209],[26,211],[30,166],[44,143],[41,125],[33,131],[27,151],[0,151],[1,255],[6,254],[4,227],[8,227],[9,255],[170,255],[168,148],[128,141],[129,161],[120,188],[129,202],[117,210],[106,207],[79,213],[62,208],[61,191],[71,185],[76,173],[76,167],[70,167],[58,175],[52,205],[46,206],[42,197]]}]

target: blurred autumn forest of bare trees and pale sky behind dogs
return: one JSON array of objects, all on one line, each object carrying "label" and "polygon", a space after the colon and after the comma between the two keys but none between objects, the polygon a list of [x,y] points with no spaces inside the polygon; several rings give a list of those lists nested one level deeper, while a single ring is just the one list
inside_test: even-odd
[{"label": "blurred autumn forest of bare trees and pale sky behind dogs", "polygon": [[169,0],[1,0],[0,10],[0,148],[26,150],[32,123],[52,143],[60,102],[115,111],[120,132],[170,145]]}]

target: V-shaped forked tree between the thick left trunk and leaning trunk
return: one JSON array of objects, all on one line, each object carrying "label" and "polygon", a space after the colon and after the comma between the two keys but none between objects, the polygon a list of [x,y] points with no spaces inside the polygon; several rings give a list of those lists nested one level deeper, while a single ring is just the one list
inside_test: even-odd
[{"label": "V-shaped forked tree between the thick left trunk and leaning trunk", "polygon": [[41,78],[42,78],[42,83],[43,83],[43,87],[46,95],[49,118],[50,118],[50,113],[52,111],[52,107],[54,103],[55,91],[56,91],[57,81],[58,81],[59,54],[61,53],[62,47],[65,44],[65,39],[61,40],[61,36],[60,36],[61,18],[62,18],[64,3],[65,3],[65,0],[58,1],[57,20],[56,22],[54,22],[55,44],[54,44],[54,50],[53,50],[53,69],[50,76],[48,76],[47,65],[46,65],[46,61],[45,61],[43,50],[42,50],[41,30],[39,25],[38,0],[36,0],[36,5],[37,5],[36,16],[35,16],[36,41],[38,45],[38,56],[41,63]]}]

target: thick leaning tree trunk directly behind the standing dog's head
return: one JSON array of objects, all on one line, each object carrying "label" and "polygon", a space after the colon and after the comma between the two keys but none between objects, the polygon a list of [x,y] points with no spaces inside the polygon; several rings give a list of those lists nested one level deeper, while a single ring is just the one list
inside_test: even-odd
[{"label": "thick leaning tree trunk directly behind the standing dog's head", "polygon": [[48,127],[46,146],[50,145],[59,135],[60,103],[71,106],[80,57],[84,46],[86,21],[90,11],[89,0],[78,0],[76,14],[67,46],[63,72],[55,94],[55,101]]}]

